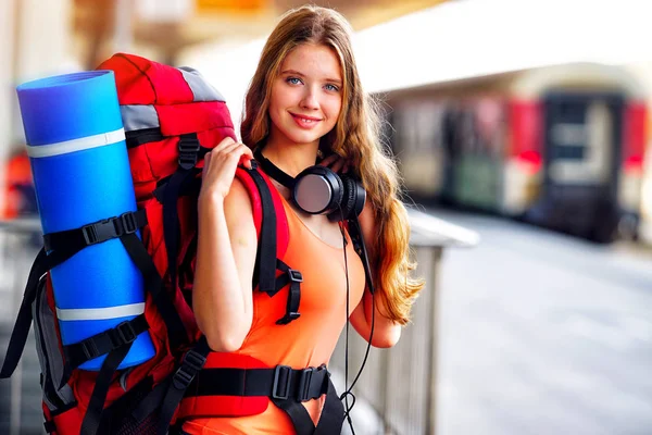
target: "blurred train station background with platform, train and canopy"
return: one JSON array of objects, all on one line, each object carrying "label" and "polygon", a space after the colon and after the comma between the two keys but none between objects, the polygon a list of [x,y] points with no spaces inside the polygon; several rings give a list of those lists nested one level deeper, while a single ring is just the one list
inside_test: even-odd
[{"label": "blurred train station background with platform, train and canopy", "polygon": [[[355,433],[652,434],[652,4],[314,3],[355,29],[428,279],[401,343],[372,351]],[[238,125],[265,37],[301,4],[0,2],[0,359],[40,246],[15,87],[131,52],[199,70]],[[27,347],[0,433],[42,433]]]}]

